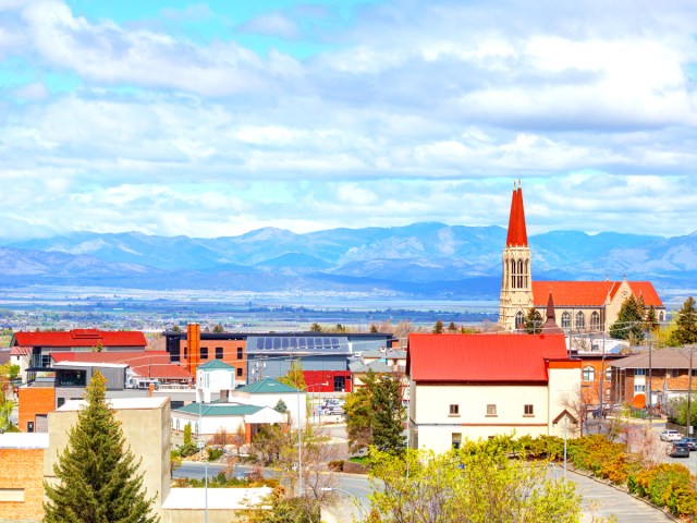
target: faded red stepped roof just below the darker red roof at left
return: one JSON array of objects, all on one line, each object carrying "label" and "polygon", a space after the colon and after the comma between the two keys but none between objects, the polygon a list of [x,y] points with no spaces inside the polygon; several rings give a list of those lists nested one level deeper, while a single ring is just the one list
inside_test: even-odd
[{"label": "faded red stepped roof just below the darker red roof at left", "polygon": [[192,379],[192,374],[181,365],[170,362],[166,351],[123,352],[51,352],[51,360],[85,363],[123,363],[140,377],[154,379]]}]

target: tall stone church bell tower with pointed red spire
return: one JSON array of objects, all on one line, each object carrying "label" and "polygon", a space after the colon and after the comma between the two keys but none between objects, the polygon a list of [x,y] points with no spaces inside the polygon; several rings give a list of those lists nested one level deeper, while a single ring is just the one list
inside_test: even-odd
[{"label": "tall stone church bell tower with pointed red spire", "polygon": [[527,244],[523,188],[518,180],[513,184],[509,233],[503,248],[503,277],[499,300],[499,326],[514,331],[523,325],[523,317],[533,307],[533,275],[530,247]]}]

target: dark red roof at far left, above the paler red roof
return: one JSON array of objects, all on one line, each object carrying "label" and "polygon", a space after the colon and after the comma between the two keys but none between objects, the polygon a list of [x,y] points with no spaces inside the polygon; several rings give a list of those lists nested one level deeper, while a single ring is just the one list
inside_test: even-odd
[{"label": "dark red roof at far left, above the paler red roof", "polygon": [[142,346],[146,341],[138,330],[73,329],[68,331],[15,332],[13,345],[24,346]]}]

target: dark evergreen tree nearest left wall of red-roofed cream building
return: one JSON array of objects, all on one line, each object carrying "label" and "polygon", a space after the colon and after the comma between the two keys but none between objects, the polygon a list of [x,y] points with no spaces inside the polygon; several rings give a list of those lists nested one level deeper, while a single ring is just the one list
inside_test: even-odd
[{"label": "dark evergreen tree nearest left wall of red-roofed cream building", "polygon": [[402,405],[400,380],[390,376],[380,376],[372,396],[372,445],[382,452],[400,454],[406,448],[402,435],[402,424],[406,419],[406,411]]}]

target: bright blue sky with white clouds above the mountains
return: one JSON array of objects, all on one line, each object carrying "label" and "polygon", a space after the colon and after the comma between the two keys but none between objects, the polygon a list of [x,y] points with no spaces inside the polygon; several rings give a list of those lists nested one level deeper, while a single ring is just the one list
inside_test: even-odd
[{"label": "bright blue sky with white clouds above the mountains", "polygon": [[0,239],[697,230],[694,0],[0,0]]}]

